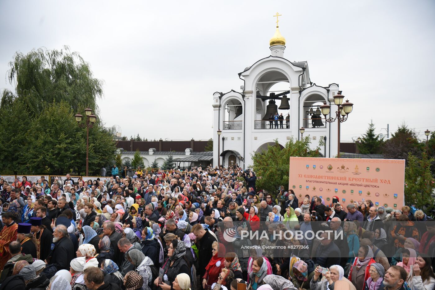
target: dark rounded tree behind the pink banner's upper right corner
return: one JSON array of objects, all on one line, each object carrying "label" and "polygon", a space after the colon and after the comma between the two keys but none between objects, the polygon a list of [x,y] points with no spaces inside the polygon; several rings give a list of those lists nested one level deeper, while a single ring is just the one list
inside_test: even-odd
[{"label": "dark rounded tree behind the pink banner's upper right corner", "polygon": [[387,159],[408,160],[408,154],[421,156],[424,144],[420,143],[414,130],[403,123],[391,138],[385,141],[382,152]]}]

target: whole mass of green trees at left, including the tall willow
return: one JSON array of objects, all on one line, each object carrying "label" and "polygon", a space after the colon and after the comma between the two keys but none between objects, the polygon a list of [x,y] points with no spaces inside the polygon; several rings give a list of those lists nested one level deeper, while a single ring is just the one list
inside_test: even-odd
[{"label": "whole mass of green trees at left, including the tall willow", "polygon": [[[86,129],[77,126],[74,114],[85,115],[87,106],[97,114],[103,82],[68,47],[17,52],[9,66],[7,79],[15,92],[1,92],[2,173],[84,174]],[[101,167],[111,164],[115,149],[111,133],[97,118],[89,130],[90,174],[99,174]]]}]

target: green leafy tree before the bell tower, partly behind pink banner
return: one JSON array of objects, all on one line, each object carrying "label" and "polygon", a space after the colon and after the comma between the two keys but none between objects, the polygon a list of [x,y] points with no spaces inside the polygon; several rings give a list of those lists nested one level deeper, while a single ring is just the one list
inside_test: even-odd
[{"label": "green leafy tree before the bell tower, partly behind pink banner", "polygon": [[274,194],[280,185],[288,186],[289,160],[291,156],[319,157],[320,147],[310,148],[310,138],[302,140],[290,138],[284,148],[275,140],[275,145],[268,145],[267,150],[252,155],[253,169],[257,175],[255,186]]}]

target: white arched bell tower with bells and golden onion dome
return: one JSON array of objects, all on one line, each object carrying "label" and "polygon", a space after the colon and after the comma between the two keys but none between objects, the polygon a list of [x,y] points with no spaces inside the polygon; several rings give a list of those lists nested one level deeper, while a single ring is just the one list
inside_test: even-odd
[{"label": "white arched bell tower with bells and golden onion dome", "polygon": [[[337,122],[321,119],[324,116],[319,106],[324,102],[331,105],[327,117],[335,117],[333,96],[338,94],[338,84],[317,85],[310,80],[306,61],[292,62],[284,57],[285,39],[278,30],[278,21],[270,50],[270,56],[238,74],[243,81],[240,92],[213,94],[214,166],[237,163],[246,169],[253,164],[251,154],[273,145],[275,139],[281,146],[291,137],[301,139],[300,128],[305,128],[303,137],[309,136],[312,148],[324,140],[322,156],[337,155]],[[282,114],[282,127],[280,121],[275,126],[275,121],[270,120],[275,113]]]}]

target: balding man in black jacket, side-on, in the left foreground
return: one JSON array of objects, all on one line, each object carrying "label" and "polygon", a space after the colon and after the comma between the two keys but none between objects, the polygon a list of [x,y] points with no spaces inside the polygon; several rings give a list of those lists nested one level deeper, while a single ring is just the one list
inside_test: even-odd
[{"label": "balding man in black jacket, side-on, in the left foreground", "polygon": [[[56,267],[56,271],[70,269],[70,261],[74,259],[74,245],[68,234],[67,227],[64,225],[56,226],[53,233],[53,250],[47,257],[49,268],[51,265]],[[51,278],[51,277],[47,277]]]}]

